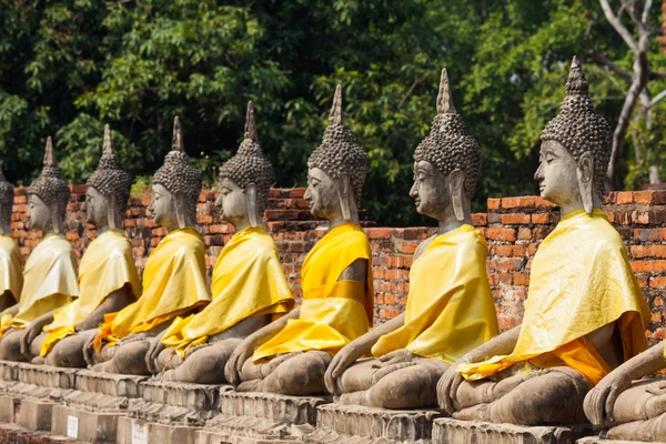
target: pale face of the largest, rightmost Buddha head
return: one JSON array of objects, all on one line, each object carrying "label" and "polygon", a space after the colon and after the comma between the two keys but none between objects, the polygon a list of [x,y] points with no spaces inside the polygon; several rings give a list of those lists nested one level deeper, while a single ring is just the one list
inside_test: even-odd
[{"label": "pale face of the largest, rightmost Buddha head", "polygon": [[543,199],[561,206],[581,200],[578,162],[562,143],[554,140],[543,142],[538,160],[534,179]]}]

